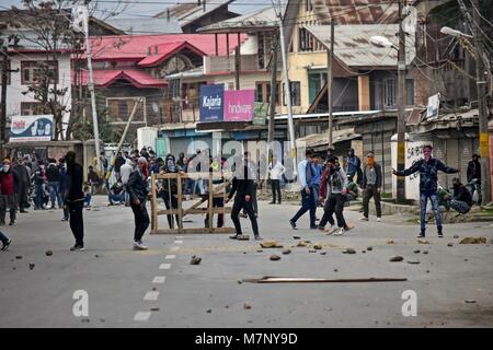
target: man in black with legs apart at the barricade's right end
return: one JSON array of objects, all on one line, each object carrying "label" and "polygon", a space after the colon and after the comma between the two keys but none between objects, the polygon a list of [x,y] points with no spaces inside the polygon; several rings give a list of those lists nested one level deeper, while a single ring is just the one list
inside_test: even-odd
[{"label": "man in black with legs apart at the barricade's right end", "polygon": [[249,152],[244,153],[243,160],[237,160],[234,168],[236,172],[232,179],[231,192],[226,200],[226,202],[228,202],[229,200],[231,200],[234,194],[237,195],[234,197],[234,203],[231,210],[231,220],[234,223],[237,234],[230,236],[230,238],[237,240],[238,236],[242,235],[239,214],[241,209],[244,209],[252,223],[252,230],[255,240],[261,241],[262,238],[259,235],[259,224],[256,223],[256,217],[252,206],[252,197],[254,190],[253,182],[255,179],[255,172],[251,166],[249,166]]}]

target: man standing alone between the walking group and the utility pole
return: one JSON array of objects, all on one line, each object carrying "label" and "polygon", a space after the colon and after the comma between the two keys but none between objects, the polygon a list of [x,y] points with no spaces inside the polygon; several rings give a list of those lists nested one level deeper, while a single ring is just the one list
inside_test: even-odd
[{"label": "man standing alone between the walking group and the utility pole", "polygon": [[363,170],[363,218],[362,221],[368,221],[369,200],[374,197],[375,208],[377,210],[377,221],[381,221],[381,166],[375,162],[375,153],[368,152],[366,155],[366,166]]}]

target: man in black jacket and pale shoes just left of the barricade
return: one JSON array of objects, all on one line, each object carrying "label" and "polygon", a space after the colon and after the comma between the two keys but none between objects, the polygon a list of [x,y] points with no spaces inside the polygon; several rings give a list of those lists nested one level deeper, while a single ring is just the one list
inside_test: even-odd
[{"label": "man in black jacket and pale shoes just left of the barricade", "polygon": [[149,228],[149,214],[146,208],[147,186],[144,182],[142,166],[146,166],[145,158],[139,158],[134,172],[127,183],[127,191],[130,197],[130,207],[135,218],[134,250],[146,250],[142,244],[142,236]]}]

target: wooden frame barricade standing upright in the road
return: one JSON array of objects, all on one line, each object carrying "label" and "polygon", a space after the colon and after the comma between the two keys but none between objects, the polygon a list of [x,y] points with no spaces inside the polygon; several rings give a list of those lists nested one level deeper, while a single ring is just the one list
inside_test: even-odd
[{"label": "wooden frame barricade standing upright in the road", "polygon": [[[207,180],[206,194],[200,196],[195,203],[193,203],[190,208],[184,208],[183,203],[184,195],[183,195],[183,185],[182,182],[186,178],[192,179],[203,179]],[[157,196],[157,180],[165,182],[174,179],[176,180],[176,189],[177,192],[175,195],[177,201],[177,209],[167,209],[159,210],[158,208],[158,196]],[[213,184],[213,180],[223,179],[220,185]],[[222,198],[223,202],[228,198],[226,194],[226,188],[231,182],[231,176],[228,173],[191,173],[191,174],[180,174],[180,173],[169,173],[169,174],[152,174],[151,177],[151,234],[176,234],[176,233],[234,233],[233,228],[214,228],[214,215],[222,214],[223,222],[226,223],[226,214],[231,212],[230,207],[226,207],[226,203],[222,208],[214,208],[214,198]],[[207,208],[199,208],[204,202],[207,202]],[[171,208],[171,207],[170,207]],[[207,214],[208,226],[207,228],[187,228],[185,229],[183,225],[183,219],[185,215],[190,214]],[[159,215],[177,215],[177,222],[175,223],[174,229],[159,229],[158,228],[158,218]],[[173,217],[174,220],[174,217]]]}]

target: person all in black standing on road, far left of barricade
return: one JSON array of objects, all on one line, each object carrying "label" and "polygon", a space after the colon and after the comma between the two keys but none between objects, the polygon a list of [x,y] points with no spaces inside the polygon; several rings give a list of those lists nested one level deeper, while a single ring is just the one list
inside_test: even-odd
[{"label": "person all in black standing on road, far left of barricade", "polygon": [[82,209],[84,206],[84,194],[82,191],[83,170],[76,163],[76,152],[69,151],[65,156],[67,162],[68,184],[65,196],[65,206],[70,213],[70,229],[76,237],[76,245],[70,250],[84,250],[84,222]]}]

